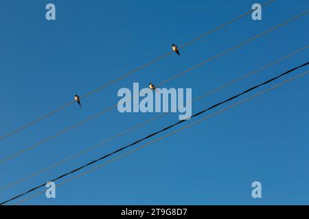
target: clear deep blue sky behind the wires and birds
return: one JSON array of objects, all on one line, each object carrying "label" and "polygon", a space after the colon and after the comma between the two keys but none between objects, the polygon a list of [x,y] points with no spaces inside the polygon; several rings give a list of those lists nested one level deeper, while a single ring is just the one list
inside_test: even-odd
[{"label": "clear deep blue sky behind the wires and birds", "polygon": [[[45,5],[56,5],[56,21]],[[264,3],[264,1],[258,1]],[[16,1],[0,3],[1,136],[129,70],[251,10],[256,1]],[[275,1],[131,77],[0,141],[1,159],[98,113],[119,98],[119,88],[161,81],[203,62],[288,18],[309,2]],[[192,88],[193,98],[308,44],[308,14],[244,47],[165,84]],[[267,68],[194,103],[197,112],[256,83],[308,61],[309,51]],[[308,70],[255,90],[252,94]],[[185,131],[61,185],[28,205],[309,204],[309,75]],[[242,98],[244,98],[243,96]],[[239,99],[238,99],[239,101]],[[233,101],[235,103],[235,101]],[[227,105],[225,105],[227,106]],[[224,107],[224,106],[222,106]],[[222,108],[221,107],[221,108]],[[218,110],[218,109],[216,109]],[[211,112],[215,112],[213,110]],[[209,112],[210,113],[210,112]],[[156,114],[108,112],[73,131],[0,164],[0,186],[115,136]],[[205,115],[206,116],[206,115]],[[178,120],[172,114],[91,153],[0,192],[4,201]],[[192,123],[196,119],[188,121]],[[179,128],[179,127],[177,127]],[[174,129],[173,129],[174,130]],[[141,145],[141,144],[139,144]],[[262,198],[251,183],[262,183]]]}]

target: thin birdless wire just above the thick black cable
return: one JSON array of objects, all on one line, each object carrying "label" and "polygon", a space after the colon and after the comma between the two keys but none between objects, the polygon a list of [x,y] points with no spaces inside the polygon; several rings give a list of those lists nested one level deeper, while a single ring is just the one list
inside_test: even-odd
[{"label": "thin birdless wire just above the thick black cable", "polygon": [[[261,70],[264,70],[265,68],[268,68],[269,66],[273,66],[274,64],[277,64],[278,62],[281,62],[282,60],[285,60],[286,58],[288,58],[288,57],[290,57],[290,56],[292,56],[292,55],[295,55],[295,54],[297,54],[297,53],[299,53],[299,52],[301,52],[301,51],[304,51],[305,49],[308,49],[308,47],[309,47],[309,46],[306,46],[306,47],[303,47],[303,48],[301,48],[301,49],[298,49],[297,51],[293,51],[293,53],[289,53],[288,55],[284,55],[284,57],[280,57],[279,59],[275,60],[274,62],[271,62],[271,63],[269,63],[269,64],[266,64],[265,66],[262,66],[261,68],[258,68],[257,70],[253,70],[253,71],[251,71],[250,73],[247,73],[246,75],[243,75],[242,77],[238,77],[237,79],[233,79],[232,81],[230,81],[230,82],[228,82],[228,83],[225,83],[225,84],[223,84],[222,86],[219,86],[218,88],[215,88],[215,89],[213,89],[213,90],[211,90],[211,91],[209,91],[209,92],[207,92],[207,93],[205,93],[205,94],[202,94],[201,96],[196,97],[196,99],[193,99],[191,102],[193,103],[194,101],[198,101],[199,99],[202,99],[202,98],[204,98],[205,96],[207,96],[207,95],[209,95],[209,94],[212,94],[212,93],[214,93],[214,92],[218,92],[218,90],[220,90],[220,89],[222,89],[222,88],[225,88],[225,87],[227,87],[227,86],[230,86],[231,84],[236,83],[237,81],[240,81],[240,80],[242,80],[242,79],[244,79],[244,78],[247,78],[247,77],[249,77],[249,76],[251,76],[251,75],[253,75],[253,74],[255,74],[255,73],[258,73],[258,72],[261,71]],[[186,104],[187,104],[187,103],[186,103]],[[84,153],[87,153],[87,152],[89,152],[89,151],[91,151],[91,150],[97,148],[98,146],[102,146],[103,144],[105,144],[105,143],[107,143],[107,142],[110,142],[111,140],[114,140],[115,138],[119,138],[120,136],[124,135],[125,133],[128,133],[128,132],[130,132],[130,131],[133,131],[134,129],[137,129],[137,128],[139,128],[139,127],[142,127],[142,126],[144,126],[144,125],[147,125],[148,123],[151,123],[153,120],[157,120],[157,118],[161,118],[161,117],[166,116],[166,115],[168,115],[168,114],[170,114],[170,112],[166,112],[166,113],[164,113],[164,114],[162,114],[162,115],[160,115],[160,116],[155,116],[155,117],[151,118],[150,120],[146,120],[146,122],[144,122],[144,123],[140,123],[139,125],[136,125],[136,126],[134,126],[134,127],[131,127],[130,129],[127,129],[126,131],[123,131],[122,133],[119,133],[119,134],[117,134],[116,136],[113,136],[113,137],[111,137],[111,138],[108,138],[107,140],[104,140],[104,141],[102,141],[102,142],[99,142],[98,144],[95,144],[94,146],[91,146],[91,147],[88,148],[88,149],[84,149],[83,151],[80,151],[79,153],[76,153],[76,154],[74,154],[74,155],[71,155],[71,156],[69,156],[69,157],[67,157],[67,158],[65,158],[65,159],[62,159],[62,160],[59,161],[59,162],[56,162],[55,164],[52,164],[52,165],[50,165],[50,166],[47,166],[46,168],[43,168],[42,170],[39,170],[39,171],[37,171],[37,172],[34,172],[32,175],[28,175],[27,177],[23,177],[23,179],[20,179],[19,181],[14,181],[13,183],[10,183],[9,185],[6,185],[5,187],[0,188],[0,192],[3,191],[3,190],[8,189],[8,188],[10,188],[10,187],[12,187],[12,186],[14,186],[14,185],[17,185],[17,184],[19,184],[19,183],[21,183],[21,182],[23,182],[23,181],[25,181],[25,180],[27,180],[27,179],[30,179],[31,177],[34,177],[34,176],[36,176],[36,175],[38,175],[38,174],[41,174],[42,172],[45,172],[45,171],[47,171],[47,170],[50,170],[51,168],[54,168],[54,167],[56,167],[56,166],[58,166],[58,165],[60,165],[60,164],[63,164],[63,163],[67,162],[67,161],[70,160],[70,159],[73,159],[73,158],[78,157],[78,156],[80,156],[80,155],[82,155],[82,154],[84,154]]]}]

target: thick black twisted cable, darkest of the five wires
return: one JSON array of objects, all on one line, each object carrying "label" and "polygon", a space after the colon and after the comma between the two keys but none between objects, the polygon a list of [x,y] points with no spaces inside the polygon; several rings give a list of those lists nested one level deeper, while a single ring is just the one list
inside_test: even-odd
[{"label": "thick black twisted cable, darkest of the five wires", "polygon": [[[205,112],[207,112],[207,111],[209,111],[209,110],[211,110],[211,109],[214,109],[215,107],[218,107],[218,106],[222,105],[223,103],[227,103],[227,102],[229,102],[229,101],[232,101],[233,99],[236,99],[236,98],[238,98],[239,96],[242,96],[243,94],[246,94],[247,92],[251,92],[251,90],[255,90],[255,89],[259,88],[260,86],[264,86],[264,85],[267,84],[267,83],[271,83],[271,81],[274,81],[275,79],[278,79],[278,78],[280,78],[280,77],[283,77],[284,75],[287,75],[288,73],[291,73],[291,72],[293,72],[294,70],[297,70],[297,69],[299,69],[299,68],[302,68],[302,67],[306,66],[307,64],[309,64],[309,62],[306,62],[305,64],[301,64],[300,66],[297,66],[297,67],[292,68],[292,69],[290,69],[290,70],[287,70],[286,72],[284,72],[284,73],[282,73],[282,74],[280,74],[280,75],[277,75],[276,77],[273,77],[273,78],[271,78],[271,79],[268,79],[267,81],[264,81],[264,82],[262,82],[262,83],[259,83],[258,85],[253,86],[252,88],[249,88],[249,89],[247,89],[247,90],[244,90],[243,92],[240,92],[239,94],[236,94],[236,95],[234,95],[234,96],[231,96],[229,99],[226,99],[225,101],[220,101],[219,103],[216,103],[215,105],[212,105],[211,107],[208,107],[207,109],[202,110],[202,111],[200,111],[200,112],[194,114],[193,116],[191,116],[191,118],[194,118],[194,117],[199,116],[199,115],[201,115],[201,114],[203,114],[203,113],[205,113]],[[130,147],[130,146],[133,146],[133,145],[135,145],[135,144],[138,144],[139,142],[142,142],[142,141],[144,141],[144,140],[146,140],[146,139],[148,139],[148,138],[151,138],[152,136],[156,136],[157,134],[159,134],[159,133],[161,133],[161,132],[163,132],[163,131],[166,131],[166,130],[168,130],[168,129],[171,129],[172,127],[174,127],[174,126],[176,126],[176,125],[179,125],[179,124],[181,124],[181,123],[184,123],[185,121],[187,121],[187,120],[179,120],[178,122],[176,122],[176,123],[174,123],[174,124],[172,124],[172,125],[169,125],[168,127],[165,127],[165,128],[163,128],[163,129],[161,129],[161,130],[159,130],[159,131],[156,131],[156,132],[154,132],[154,133],[151,133],[150,135],[148,135],[148,136],[146,136],[146,137],[144,137],[144,138],[140,138],[139,140],[137,140],[137,141],[135,141],[135,142],[133,142],[133,143],[131,143],[131,144],[128,144],[128,145],[126,145],[126,146],[123,146],[122,148],[117,149],[116,151],[113,151],[113,152],[111,152],[111,153],[108,153],[107,155],[104,155],[104,156],[102,156],[102,157],[100,157],[100,158],[98,158],[98,159],[95,159],[95,160],[89,162],[88,164],[84,164],[83,166],[80,166],[80,167],[78,167],[78,168],[76,168],[76,169],[74,169],[74,170],[71,170],[71,171],[69,171],[69,172],[63,174],[63,175],[60,175],[59,177],[56,177],[55,179],[52,179],[51,181],[57,181],[58,179],[62,179],[63,177],[67,177],[68,175],[71,175],[71,174],[73,174],[74,172],[77,172],[78,170],[81,170],[81,169],[83,169],[83,168],[86,168],[87,166],[90,166],[91,164],[95,164],[96,162],[99,162],[99,161],[102,160],[102,159],[106,159],[107,157],[110,157],[111,155],[114,155],[114,154],[116,154],[116,153],[119,153],[120,151],[124,151],[124,149],[127,149],[127,148]],[[21,197],[21,196],[24,196],[24,195],[27,194],[27,193],[30,193],[30,192],[32,192],[32,191],[34,191],[34,190],[37,190],[38,188],[41,188],[41,187],[45,186],[45,184],[46,184],[46,183],[42,183],[41,185],[38,185],[38,186],[36,186],[36,187],[34,187],[34,188],[28,190],[27,192],[23,192],[22,194],[19,194],[18,196],[15,196],[15,197],[13,197],[13,198],[10,198],[9,200],[4,201],[3,203],[0,203],[0,205],[3,205],[3,204],[5,204],[5,203],[8,203],[9,201],[12,201],[12,200],[14,200],[14,199],[16,199],[16,198],[19,198],[19,197]]]}]

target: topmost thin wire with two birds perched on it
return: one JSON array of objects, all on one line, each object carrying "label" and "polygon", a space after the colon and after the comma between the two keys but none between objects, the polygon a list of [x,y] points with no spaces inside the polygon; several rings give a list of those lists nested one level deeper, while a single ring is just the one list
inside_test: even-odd
[{"label": "topmost thin wire with two birds perched on it", "polygon": [[[262,4],[262,7],[268,5],[269,3],[272,3],[273,1],[275,1],[275,0],[267,1],[266,3]],[[225,23],[225,24],[223,24],[223,25],[220,25],[219,27],[216,27],[215,29],[213,29],[213,30],[207,32],[206,34],[203,34],[203,35],[201,35],[201,36],[198,36],[198,38],[195,38],[194,40],[191,40],[190,42],[187,42],[186,44],[183,44],[183,46],[181,46],[180,48],[187,47],[189,44],[192,44],[193,42],[196,42],[196,41],[200,40],[201,38],[204,38],[205,36],[207,36],[207,35],[213,33],[214,31],[217,31],[217,30],[219,30],[219,29],[222,29],[223,27],[225,27],[225,26],[227,26],[227,25],[229,25],[229,24],[231,24],[231,23],[233,23],[233,22],[235,22],[235,21],[238,21],[238,20],[239,20],[240,18],[242,18],[243,16],[246,16],[246,15],[248,15],[248,14],[251,14],[251,12],[253,12],[253,11],[255,11],[255,9],[253,9],[253,10],[247,12],[247,13],[244,13],[244,14],[242,14],[241,16],[238,16],[237,18],[234,18],[234,19],[232,19],[231,21],[229,21],[229,22],[227,22],[227,23]],[[104,85],[100,86],[99,88],[97,88],[97,89],[95,89],[95,90],[92,90],[91,92],[88,92],[87,94],[84,94],[84,95],[80,96],[80,99],[83,99],[83,98],[85,98],[85,97],[87,97],[87,96],[90,96],[91,94],[94,94],[95,92],[98,92],[98,91],[102,90],[103,88],[106,88],[107,86],[111,85],[112,83],[115,83],[115,82],[117,82],[117,81],[120,81],[120,80],[122,80],[122,79],[124,79],[124,78],[126,78],[126,77],[128,77],[128,76],[130,76],[130,75],[132,75],[133,73],[135,73],[135,72],[137,72],[137,71],[139,71],[139,70],[141,70],[141,69],[143,69],[143,68],[146,68],[147,66],[150,66],[151,64],[154,64],[155,62],[158,62],[159,60],[162,60],[164,57],[167,57],[168,55],[170,55],[170,54],[172,54],[172,53],[173,53],[173,51],[170,51],[170,52],[168,52],[168,53],[165,53],[164,55],[161,55],[161,56],[155,58],[155,60],[152,60],[152,61],[150,61],[150,62],[144,64],[143,66],[139,66],[138,68],[135,68],[134,70],[131,70],[130,72],[128,72],[128,73],[122,75],[121,77],[119,77],[119,78],[117,78],[117,79],[114,79],[113,81],[109,81],[108,83],[105,83]],[[58,107],[56,110],[54,110],[54,111],[52,111],[52,112],[49,112],[48,114],[45,114],[44,116],[41,116],[41,117],[36,118],[36,119],[33,120],[32,122],[27,123],[26,125],[23,125],[23,126],[19,127],[18,129],[15,129],[14,131],[11,131],[10,133],[5,134],[5,136],[2,136],[2,137],[0,138],[0,140],[3,140],[4,138],[8,138],[9,136],[12,136],[14,133],[17,133],[17,132],[19,132],[19,131],[21,131],[21,130],[27,128],[27,127],[30,127],[31,125],[34,125],[34,123],[37,123],[37,122],[40,121],[40,120],[43,120],[44,118],[47,118],[47,117],[49,117],[49,116],[52,116],[52,115],[55,114],[56,112],[65,109],[66,107],[68,107],[69,105],[71,105],[71,104],[73,104],[73,103],[75,103],[75,101],[70,101],[70,102],[66,103],[65,105],[62,105],[62,106]]]}]

